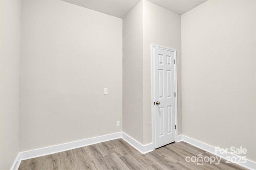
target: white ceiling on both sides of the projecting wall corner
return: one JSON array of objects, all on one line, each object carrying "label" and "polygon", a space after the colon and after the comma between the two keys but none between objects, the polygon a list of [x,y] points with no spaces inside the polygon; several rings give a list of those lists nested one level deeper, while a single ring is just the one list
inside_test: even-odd
[{"label": "white ceiling on both sides of the projecting wall corner", "polygon": [[[63,0],[91,10],[124,18],[140,0]],[[177,14],[184,14],[207,0],[148,0]]]}]

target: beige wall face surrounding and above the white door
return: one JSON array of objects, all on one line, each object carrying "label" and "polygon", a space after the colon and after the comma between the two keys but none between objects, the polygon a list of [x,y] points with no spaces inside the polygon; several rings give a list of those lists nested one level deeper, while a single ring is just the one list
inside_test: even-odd
[{"label": "beige wall face surrounding and above the white door", "polygon": [[181,134],[181,16],[143,0],[143,141],[152,142],[150,45],[177,49],[178,133]]}]

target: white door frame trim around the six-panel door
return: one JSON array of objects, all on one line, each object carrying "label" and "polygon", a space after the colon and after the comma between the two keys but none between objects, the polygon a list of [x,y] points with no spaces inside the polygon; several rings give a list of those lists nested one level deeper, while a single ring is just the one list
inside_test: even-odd
[{"label": "white door frame trim around the six-panel door", "polygon": [[162,47],[159,45],[154,45],[151,44],[150,45],[150,50],[151,50],[151,122],[152,122],[152,143],[154,148],[156,148],[156,141],[155,141],[155,112],[154,112],[154,99],[155,99],[155,77],[154,77],[154,48],[158,48],[158,49],[164,49],[164,50],[168,50],[168,51],[172,51],[174,52],[174,60],[175,60],[175,64],[174,64],[174,92],[176,93],[176,97],[175,97],[175,125],[176,125],[176,129],[175,129],[175,142],[178,141],[178,93],[177,93],[177,50],[176,49],[172,49],[169,47]]}]

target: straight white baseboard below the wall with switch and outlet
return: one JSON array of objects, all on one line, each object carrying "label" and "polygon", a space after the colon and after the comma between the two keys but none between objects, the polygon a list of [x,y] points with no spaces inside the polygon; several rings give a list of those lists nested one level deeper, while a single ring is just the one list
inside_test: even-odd
[{"label": "straight white baseboard below the wall with switch and outlet", "polygon": [[114,140],[122,137],[122,132],[112,133],[112,134],[106,134],[103,136],[97,136],[94,138],[88,138],[84,140],[78,140],[74,142],[68,142],[64,144],[58,144],[54,146],[48,146],[45,148],[39,148],[34,150],[28,150],[25,152],[20,152],[20,160],[26,160],[31,158],[36,158],[39,156],[45,156],[49,154],[54,154],[58,152],[63,152],[66,150],[76,149],[83,146],[88,146],[91,144],[96,144],[100,142],[106,142],[108,140]]}]

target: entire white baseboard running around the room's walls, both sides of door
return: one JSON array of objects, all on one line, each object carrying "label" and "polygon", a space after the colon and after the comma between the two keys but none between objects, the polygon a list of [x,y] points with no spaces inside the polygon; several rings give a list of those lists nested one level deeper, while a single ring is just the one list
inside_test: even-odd
[{"label": "entire white baseboard running around the room's walls, both sides of door", "polygon": [[[100,142],[106,142],[106,141],[114,140],[114,139],[118,139],[118,138],[123,138],[126,142],[128,142],[132,147],[134,147],[136,150],[138,150],[142,154],[146,154],[146,153],[154,150],[153,143],[143,145],[140,142],[138,142],[137,140],[135,140],[134,138],[132,138],[131,136],[129,136],[128,134],[126,134],[124,132],[117,132],[117,133],[113,133],[113,134],[97,136],[94,138],[88,138],[88,139],[84,139],[84,140],[78,140],[78,141],[64,143],[64,144],[58,144],[55,146],[49,146],[49,147],[45,147],[45,148],[39,148],[39,149],[35,149],[35,150],[28,150],[25,152],[20,152],[18,154],[18,156],[16,157],[16,160],[15,160],[14,164],[12,165],[11,170],[17,170],[20,165],[21,160],[26,160],[26,159],[30,159],[30,158],[36,158],[39,156],[45,156],[45,155],[49,155],[49,154],[63,152],[66,150],[80,148],[83,146],[88,146],[88,145],[92,145],[92,144],[96,144],[96,143],[100,143]],[[187,143],[192,144],[202,150],[205,150],[207,152],[215,154],[214,146],[211,146],[204,142],[200,142],[200,141],[190,138],[188,136],[179,135],[178,142],[180,142],[180,141],[187,142]],[[230,157],[237,156],[237,155],[231,154],[229,152],[226,152],[224,154],[218,153],[215,155],[220,156],[221,158],[224,158],[224,159],[226,158],[226,156],[230,156]],[[256,170],[256,162],[254,162],[252,160],[246,159],[246,163],[239,164],[239,165],[243,166],[245,168],[251,169],[251,170]]]}]

